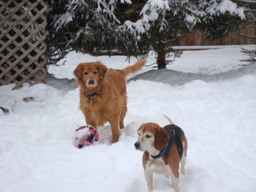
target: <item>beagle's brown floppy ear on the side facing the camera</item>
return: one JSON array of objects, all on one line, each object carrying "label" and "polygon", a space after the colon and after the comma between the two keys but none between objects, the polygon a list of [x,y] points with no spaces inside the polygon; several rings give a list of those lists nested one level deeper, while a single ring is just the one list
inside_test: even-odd
[{"label": "beagle's brown floppy ear on the side facing the camera", "polygon": [[169,142],[169,135],[165,131],[164,128],[161,128],[160,126],[155,127],[155,140],[154,140],[154,146],[155,148],[160,151],[162,150],[166,144]]}]

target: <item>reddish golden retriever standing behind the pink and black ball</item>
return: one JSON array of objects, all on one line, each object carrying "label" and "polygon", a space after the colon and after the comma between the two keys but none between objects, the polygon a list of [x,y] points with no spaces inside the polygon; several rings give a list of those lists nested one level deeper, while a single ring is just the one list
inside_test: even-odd
[{"label": "reddish golden retriever standing behind the pink and black ball", "polygon": [[126,76],[139,71],[146,60],[122,70],[108,69],[101,62],[80,63],[73,74],[80,85],[80,109],[87,125],[97,129],[109,121],[112,143],[118,141],[127,111]]}]

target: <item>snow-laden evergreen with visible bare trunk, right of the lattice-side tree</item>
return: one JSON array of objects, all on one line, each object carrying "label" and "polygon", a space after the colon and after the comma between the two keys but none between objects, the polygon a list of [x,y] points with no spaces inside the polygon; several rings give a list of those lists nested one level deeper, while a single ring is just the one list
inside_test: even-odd
[{"label": "snow-laden evergreen with visible bare trunk, right of the lattice-side tree", "polygon": [[147,0],[140,16],[131,25],[156,51],[158,69],[166,68],[166,53],[181,32],[206,30],[207,38],[217,38],[238,30],[244,19],[243,9],[230,0]]}]

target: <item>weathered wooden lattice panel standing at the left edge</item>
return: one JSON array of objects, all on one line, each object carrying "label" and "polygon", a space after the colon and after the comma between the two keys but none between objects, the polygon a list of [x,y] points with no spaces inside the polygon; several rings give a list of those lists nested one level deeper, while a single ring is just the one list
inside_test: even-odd
[{"label": "weathered wooden lattice panel standing at the left edge", "polygon": [[46,4],[0,0],[0,85],[43,82],[46,70]]}]

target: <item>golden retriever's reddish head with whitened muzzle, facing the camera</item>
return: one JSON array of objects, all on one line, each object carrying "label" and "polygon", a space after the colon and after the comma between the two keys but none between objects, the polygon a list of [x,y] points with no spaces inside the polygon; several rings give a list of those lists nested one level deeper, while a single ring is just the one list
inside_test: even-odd
[{"label": "golden retriever's reddish head with whitened muzzle, facing the camera", "polygon": [[98,88],[98,84],[104,79],[108,68],[101,62],[86,62],[77,65],[73,71],[76,82],[88,93],[94,92]]}]

